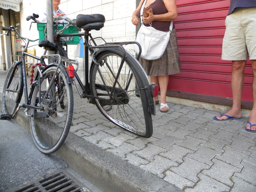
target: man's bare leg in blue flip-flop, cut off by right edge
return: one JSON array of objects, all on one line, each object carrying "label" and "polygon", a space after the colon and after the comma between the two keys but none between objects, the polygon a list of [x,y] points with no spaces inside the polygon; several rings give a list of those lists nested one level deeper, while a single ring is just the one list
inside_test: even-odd
[{"label": "man's bare leg in blue flip-flop, cut off by right edge", "polygon": [[[252,60],[252,68],[253,68],[253,83],[252,83],[252,95],[253,95],[253,106],[252,111],[249,116],[249,122],[251,124],[256,124],[256,60]],[[250,128],[249,123],[246,125],[246,129],[256,131],[256,125],[253,125]]]}]

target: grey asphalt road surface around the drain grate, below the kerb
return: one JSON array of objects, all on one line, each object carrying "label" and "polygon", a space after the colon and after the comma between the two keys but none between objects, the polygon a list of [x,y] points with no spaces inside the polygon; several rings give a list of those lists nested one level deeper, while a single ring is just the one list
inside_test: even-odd
[{"label": "grey asphalt road surface around the drain grate, below the kerb", "polygon": [[14,120],[0,120],[0,191],[12,191],[20,185],[60,170],[74,178],[86,192],[100,192],[75,173],[58,155],[42,154],[34,146],[31,134]]}]

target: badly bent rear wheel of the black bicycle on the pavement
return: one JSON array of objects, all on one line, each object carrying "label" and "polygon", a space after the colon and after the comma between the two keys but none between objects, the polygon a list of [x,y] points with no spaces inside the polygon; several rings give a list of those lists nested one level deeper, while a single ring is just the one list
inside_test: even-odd
[{"label": "badly bent rear wheel of the black bicycle on the pavement", "polygon": [[[151,114],[148,111],[146,97],[148,90],[143,89],[141,76],[144,71],[135,67],[138,61],[128,52],[121,69],[122,75],[117,78],[113,96],[110,95],[122,56],[123,54],[116,49],[107,50],[96,56],[96,61],[100,65],[93,63],[90,70],[91,93],[103,99],[112,97],[111,102],[95,99],[99,111],[108,120],[129,132],[150,138],[153,133],[153,125]],[[136,85],[140,89],[136,88]],[[136,94],[139,94],[140,97],[137,97]]]}]

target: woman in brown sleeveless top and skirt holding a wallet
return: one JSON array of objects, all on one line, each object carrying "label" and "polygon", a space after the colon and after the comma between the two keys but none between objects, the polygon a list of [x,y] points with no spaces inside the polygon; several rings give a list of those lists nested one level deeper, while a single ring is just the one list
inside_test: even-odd
[{"label": "woman in brown sleeveless top and skirt holding a wallet", "polygon": [[[144,0],[140,1],[139,6],[132,14],[132,24],[138,25],[140,19],[140,10],[142,8]],[[177,19],[177,7],[175,0],[147,0],[145,7],[152,8],[153,14],[147,12],[149,15],[147,18],[143,17],[143,23],[145,26],[152,26],[160,31],[169,31],[171,21]],[[150,24],[150,25],[149,25]],[[166,91],[169,81],[169,75],[177,74],[180,72],[180,59],[178,55],[176,30],[173,26],[170,34],[170,41],[167,45],[163,56],[157,60],[146,60],[140,58],[139,62],[150,76],[151,82],[159,84],[160,86],[160,111],[167,112],[169,107],[166,103]],[[158,96],[155,98],[156,104],[159,103]]]}]

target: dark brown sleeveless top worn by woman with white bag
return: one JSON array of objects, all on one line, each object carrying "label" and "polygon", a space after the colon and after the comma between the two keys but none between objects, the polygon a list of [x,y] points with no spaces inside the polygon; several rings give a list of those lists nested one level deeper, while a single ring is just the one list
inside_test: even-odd
[{"label": "dark brown sleeveless top worn by woman with white bag", "polygon": [[[156,0],[155,2],[151,3],[148,7],[152,8],[154,15],[165,14],[168,12],[165,7],[165,4],[163,3],[163,0]],[[141,8],[142,7],[140,7],[140,10]],[[143,8],[143,10],[144,9],[145,7]],[[140,11],[137,16],[140,18]],[[149,24],[145,24],[145,23],[143,24],[147,27],[150,26]],[[153,21],[151,26],[159,31],[169,31],[170,25],[171,25],[171,21]],[[173,25],[173,28],[174,28],[174,25]]]}]

